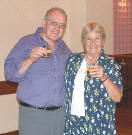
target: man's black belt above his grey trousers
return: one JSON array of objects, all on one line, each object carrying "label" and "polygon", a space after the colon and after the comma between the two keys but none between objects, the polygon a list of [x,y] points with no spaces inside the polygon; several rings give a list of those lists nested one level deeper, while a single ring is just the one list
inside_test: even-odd
[{"label": "man's black belt above his grey trousers", "polygon": [[25,106],[25,107],[40,109],[40,110],[47,110],[47,111],[54,111],[54,110],[57,110],[59,108],[62,108],[62,106],[37,107],[37,106],[30,105],[30,104],[27,104],[24,102],[19,102],[19,103],[20,103],[20,105]]}]

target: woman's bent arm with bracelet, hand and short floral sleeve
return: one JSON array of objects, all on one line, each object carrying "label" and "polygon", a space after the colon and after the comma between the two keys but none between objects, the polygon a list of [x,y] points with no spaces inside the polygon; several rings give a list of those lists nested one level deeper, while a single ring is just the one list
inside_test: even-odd
[{"label": "woman's bent arm with bracelet, hand and short floral sleeve", "polygon": [[102,81],[106,88],[106,91],[108,92],[108,95],[114,102],[120,102],[123,96],[123,92],[120,89],[122,84],[119,67],[116,66],[111,68],[112,73],[110,74],[110,77],[105,74],[102,66],[97,65],[93,66],[92,68],[93,69],[89,71],[89,74],[92,77],[99,78]]}]

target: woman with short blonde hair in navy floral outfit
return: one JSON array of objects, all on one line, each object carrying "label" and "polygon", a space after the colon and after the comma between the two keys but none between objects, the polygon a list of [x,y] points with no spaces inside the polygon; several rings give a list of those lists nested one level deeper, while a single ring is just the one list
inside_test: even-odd
[{"label": "woman with short blonde hair in navy floral outfit", "polygon": [[87,24],[81,39],[85,51],[71,54],[65,70],[64,134],[115,135],[115,103],[123,95],[120,66],[104,53],[101,25]]}]

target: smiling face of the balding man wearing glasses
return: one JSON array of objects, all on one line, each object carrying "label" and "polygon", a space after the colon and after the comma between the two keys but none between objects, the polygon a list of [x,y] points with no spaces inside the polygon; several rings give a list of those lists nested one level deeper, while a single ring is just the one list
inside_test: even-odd
[{"label": "smiling face of the balding man wearing glasses", "polygon": [[45,40],[58,40],[64,33],[65,25],[66,16],[60,11],[54,11],[43,21]]}]

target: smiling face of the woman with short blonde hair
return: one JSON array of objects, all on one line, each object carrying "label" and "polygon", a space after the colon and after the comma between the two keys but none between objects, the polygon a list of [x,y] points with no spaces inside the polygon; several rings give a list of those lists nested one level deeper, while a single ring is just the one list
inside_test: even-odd
[{"label": "smiling face of the woman with short blonde hair", "polygon": [[94,31],[88,32],[84,39],[84,46],[87,55],[90,56],[100,55],[101,49],[103,47],[102,35]]}]

